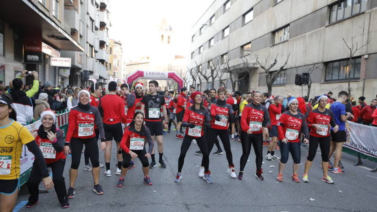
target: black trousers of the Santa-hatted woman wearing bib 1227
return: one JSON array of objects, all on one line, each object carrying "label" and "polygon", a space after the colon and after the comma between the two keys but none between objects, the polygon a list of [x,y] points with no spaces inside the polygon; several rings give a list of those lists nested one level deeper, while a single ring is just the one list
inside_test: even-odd
[{"label": "black trousers of the Santa-hatted woman wearing bib 1227", "polygon": [[[67,203],[67,190],[64,182],[63,171],[66,159],[60,159],[54,163],[47,164],[52,169],[52,181],[54,182],[54,188],[60,204]],[[41,171],[38,164],[34,161],[33,168],[31,170],[28,180],[28,190],[30,193],[29,202],[35,203],[39,198],[39,183],[42,180]]]}]

